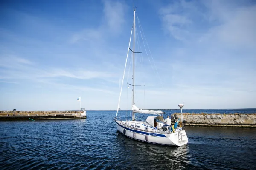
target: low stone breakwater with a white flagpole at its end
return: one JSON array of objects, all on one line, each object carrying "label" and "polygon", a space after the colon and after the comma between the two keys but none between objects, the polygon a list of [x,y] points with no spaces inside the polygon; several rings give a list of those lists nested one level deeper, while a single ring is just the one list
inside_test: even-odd
[{"label": "low stone breakwater with a white flagpole at its end", "polygon": [[0,111],[0,120],[84,119],[84,111]]}]

